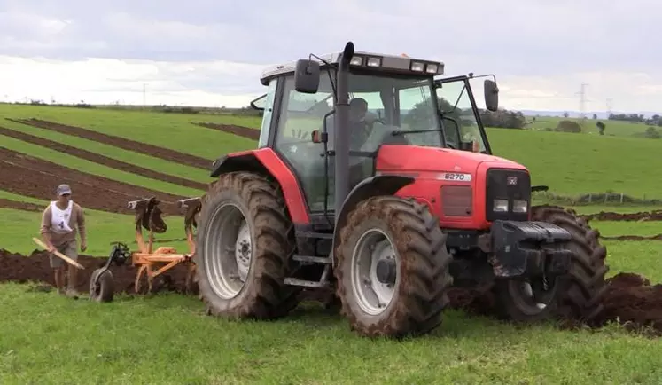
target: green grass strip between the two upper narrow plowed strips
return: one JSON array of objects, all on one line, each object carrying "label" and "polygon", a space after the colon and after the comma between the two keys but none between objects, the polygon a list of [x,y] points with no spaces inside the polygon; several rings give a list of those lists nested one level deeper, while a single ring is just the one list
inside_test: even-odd
[{"label": "green grass strip between the two upper narrow plowed strips", "polygon": [[34,135],[35,137],[49,139],[63,145],[71,145],[73,147],[90,151],[91,153],[97,153],[108,158],[112,158],[118,161],[125,161],[129,164],[135,164],[136,166],[140,166],[145,169],[152,169],[154,171],[173,175],[175,177],[184,177],[199,182],[208,182],[210,180],[209,171],[206,169],[197,169],[194,167],[175,163],[173,161],[164,161],[162,159],[149,156],[148,154],[127,151],[113,145],[104,145],[93,140],[61,134],[56,131],[38,129],[27,124],[20,124],[17,122],[0,121],[0,126],[7,129],[25,132],[27,134]]}]

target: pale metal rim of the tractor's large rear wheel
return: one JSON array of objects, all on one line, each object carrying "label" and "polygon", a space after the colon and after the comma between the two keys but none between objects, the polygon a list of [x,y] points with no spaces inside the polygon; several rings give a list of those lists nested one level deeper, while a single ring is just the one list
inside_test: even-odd
[{"label": "pale metal rim of the tractor's large rear wheel", "polygon": [[216,208],[205,239],[206,279],[216,295],[234,298],[244,287],[253,255],[250,227],[241,208],[234,203]]}]

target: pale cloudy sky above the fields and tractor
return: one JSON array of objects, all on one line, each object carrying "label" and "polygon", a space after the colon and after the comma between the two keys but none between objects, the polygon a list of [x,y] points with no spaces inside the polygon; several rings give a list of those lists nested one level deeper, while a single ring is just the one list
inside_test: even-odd
[{"label": "pale cloudy sky above the fields and tractor", "polygon": [[352,41],[495,74],[510,109],[578,111],[588,83],[587,111],[662,111],[661,2],[444,4],[0,0],[0,101],[246,106],[266,67]]}]

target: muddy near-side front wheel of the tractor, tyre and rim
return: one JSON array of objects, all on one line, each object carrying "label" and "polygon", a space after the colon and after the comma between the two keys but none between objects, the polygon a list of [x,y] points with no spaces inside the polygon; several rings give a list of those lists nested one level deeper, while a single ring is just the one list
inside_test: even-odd
[{"label": "muddy near-side front wheel of the tractor, tyre and rim", "polygon": [[360,202],[339,231],[334,274],[352,330],[399,338],[440,325],[451,255],[426,205],[373,197]]}]

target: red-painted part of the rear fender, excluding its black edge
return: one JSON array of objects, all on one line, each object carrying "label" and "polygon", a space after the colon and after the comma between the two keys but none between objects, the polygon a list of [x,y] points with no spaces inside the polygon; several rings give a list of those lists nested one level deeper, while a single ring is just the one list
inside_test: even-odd
[{"label": "red-painted part of the rear fender, excluding its black edge", "polygon": [[266,169],[269,169],[271,175],[276,177],[276,180],[283,189],[283,195],[287,208],[290,210],[290,216],[292,217],[292,222],[295,224],[309,224],[310,217],[308,216],[308,210],[306,209],[306,200],[301,193],[299,184],[297,183],[294,174],[287,167],[283,160],[272,150],[271,148],[261,148],[259,150],[248,150],[238,153],[229,153],[227,156],[229,158],[247,155],[253,153],[255,157],[264,165]]}]

